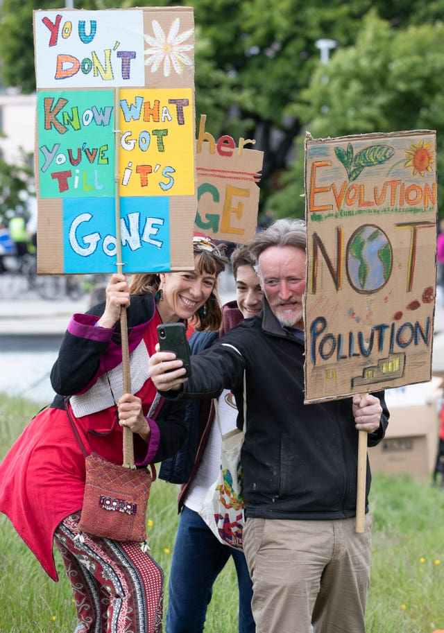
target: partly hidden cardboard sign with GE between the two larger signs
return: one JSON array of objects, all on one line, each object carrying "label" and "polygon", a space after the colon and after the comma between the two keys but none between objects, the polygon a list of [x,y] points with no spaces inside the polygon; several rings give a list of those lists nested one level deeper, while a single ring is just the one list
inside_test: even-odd
[{"label": "partly hidden cardboard sign with GE between the two larger signs", "polygon": [[205,132],[200,116],[196,150],[198,211],[194,228],[213,239],[246,244],[256,232],[260,171],[264,153],[247,148],[251,139]]}]

